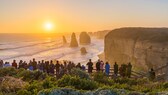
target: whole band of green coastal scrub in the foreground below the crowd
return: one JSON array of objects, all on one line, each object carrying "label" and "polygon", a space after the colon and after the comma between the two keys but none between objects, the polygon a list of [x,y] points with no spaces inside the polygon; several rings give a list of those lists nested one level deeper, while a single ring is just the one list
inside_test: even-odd
[{"label": "whole band of green coastal scrub in the foreground below the crowd", "polygon": [[[110,79],[104,73],[89,76],[80,69],[60,79],[40,71],[0,69],[0,95],[149,95],[168,91],[168,82],[151,82],[148,79]],[[166,93],[166,92],[165,92]]]}]

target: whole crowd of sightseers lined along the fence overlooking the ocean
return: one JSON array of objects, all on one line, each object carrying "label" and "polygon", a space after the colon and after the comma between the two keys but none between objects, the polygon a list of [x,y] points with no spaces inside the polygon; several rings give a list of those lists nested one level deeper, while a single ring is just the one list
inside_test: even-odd
[{"label": "whole crowd of sightseers lined along the fence overlooking the ocean", "polygon": [[[93,67],[95,66],[96,72],[105,72],[106,75],[110,75],[110,64],[108,62],[104,63],[101,60],[98,60],[95,65],[92,62],[91,59],[89,59],[89,62],[86,64],[86,66],[81,65],[81,63],[78,63],[77,65],[74,62],[71,61],[56,61],[54,63],[52,60],[51,61],[36,61],[35,58],[33,60],[30,60],[29,63],[26,61],[20,60],[19,63],[16,62],[16,60],[13,60],[13,62],[10,64],[9,62],[3,62],[3,60],[0,60],[0,68],[2,67],[14,67],[16,69],[19,68],[24,68],[28,70],[39,70],[42,72],[46,72],[48,74],[54,75],[56,74],[57,76],[61,76],[67,73],[70,73],[72,68],[79,68],[81,70],[86,71],[86,66],[87,66],[87,71],[88,73],[93,72]],[[131,77],[131,72],[132,72],[132,65],[131,63],[128,64],[121,64],[119,67],[117,62],[114,63],[113,65],[113,75],[114,77]],[[154,79],[155,77],[155,72],[153,69],[151,69],[151,79]]]}]

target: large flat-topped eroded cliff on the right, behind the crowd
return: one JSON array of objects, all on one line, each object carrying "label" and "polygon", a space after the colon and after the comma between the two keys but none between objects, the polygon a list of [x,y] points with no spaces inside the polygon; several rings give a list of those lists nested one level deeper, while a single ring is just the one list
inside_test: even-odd
[{"label": "large flat-topped eroded cliff on the right, behind the crowd", "polygon": [[105,36],[105,59],[148,70],[168,62],[168,28],[121,28]]}]

